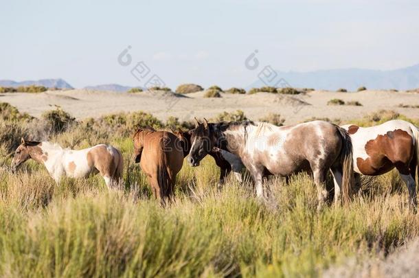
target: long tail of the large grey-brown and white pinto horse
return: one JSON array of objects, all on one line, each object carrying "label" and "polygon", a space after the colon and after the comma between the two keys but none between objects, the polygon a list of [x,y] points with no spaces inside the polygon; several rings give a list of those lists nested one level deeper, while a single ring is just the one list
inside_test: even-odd
[{"label": "long tail of the large grey-brown and white pinto horse", "polygon": [[348,203],[355,186],[352,139],[345,129],[337,126],[337,130],[342,139],[339,155],[342,165],[342,199],[344,203]]}]

